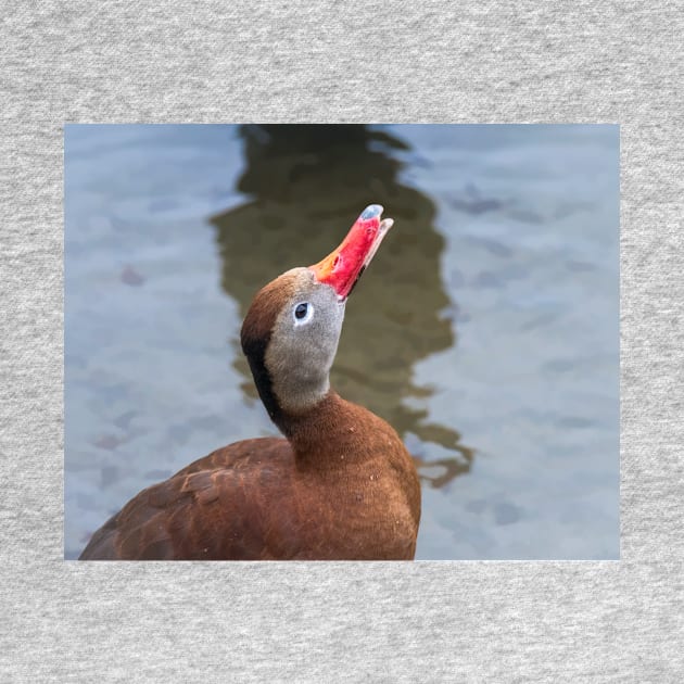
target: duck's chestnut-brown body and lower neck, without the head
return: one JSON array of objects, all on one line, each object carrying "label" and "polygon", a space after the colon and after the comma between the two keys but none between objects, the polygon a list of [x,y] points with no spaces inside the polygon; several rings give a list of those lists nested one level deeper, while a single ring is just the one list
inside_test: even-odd
[{"label": "duck's chestnut-brown body and lower neck, without the head", "polygon": [[396,432],[332,392],[281,427],[290,441],[238,442],[143,490],[80,558],[411,559],[420,486]]}]

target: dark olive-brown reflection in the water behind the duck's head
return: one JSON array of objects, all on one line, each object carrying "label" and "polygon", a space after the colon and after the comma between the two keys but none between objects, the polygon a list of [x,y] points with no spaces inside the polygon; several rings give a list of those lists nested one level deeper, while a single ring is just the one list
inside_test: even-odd
[{"label": "dark olive-brown reflection in the water behind the duck's head", "polygon": [[[413,366],[455,342],[440,279],[444,240],[434,204],[397,180],[392,150],[406,145],[366,126],[243,126],[246,169],[238,189],[252,201],[212,223],[223,256],[223,287],[245,315],[258,288],[292,268],[318,262],[344,237],[368,204],[385,207],[395,227],[351,297],[331,382],[345,398],[388,420],[402,435],[433,442],[453,457],[414,452],[421,478],[443,486],[466,472],[472,451],[452,427],[426,423],[411,404],[430,396],[416,387]],[[249,367],[237,354],[245,393],[256,398]]]}]

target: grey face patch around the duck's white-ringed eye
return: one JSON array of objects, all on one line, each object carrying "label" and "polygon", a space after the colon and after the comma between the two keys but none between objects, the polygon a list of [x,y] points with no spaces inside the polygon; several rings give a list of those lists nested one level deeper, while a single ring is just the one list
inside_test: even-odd
[{"label": "grey face patch around the duck's white-ringed eye", "polygon": [[279,405],[297,413],[317,404],[330,389],[344,302],[308,268],[290,274],[294,290],[276,318],[264,362]]}]

